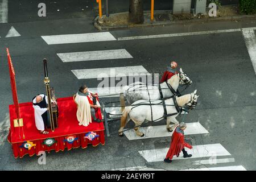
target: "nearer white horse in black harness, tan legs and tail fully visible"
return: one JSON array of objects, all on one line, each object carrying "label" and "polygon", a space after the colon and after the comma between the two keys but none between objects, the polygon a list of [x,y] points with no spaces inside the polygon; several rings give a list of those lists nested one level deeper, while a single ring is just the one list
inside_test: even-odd
[{"label": "nearer white horse in black harness, tan legs and tail fully visible", "polygon": [[[188,109],[194,109],[197,104],[198,97],[199,96],[196,95],[196,90],[191,94],[186,94],[184,96],[176,97],[177,105],[179,107],[186,106]],[[177,110],[172,98],[167,99],[165,103],[166,103],[167,114],[174,114],[167,117],[166,128],[168,131],[171,131],[177,125],[179,125],[179,122],[176,119],[179,113],[177,113]],[[120,126],[120,129],[118,130],[119,136],[123,136],[123,128],[126,126],[126,123],[130,121],[130,119],[135,123],[134,130],[139,137],[144,136],[144,134],[139,131],[139,126],[141,126],[145,120],[157,122],[163,119],[164,107],[162,105],[161,100],[151,101],[151,106],[145,105],[145,104],[150,104],[150,102],[145,100],[139,100],[134,102],[131,106],[125,107],[125,110],[123,110],[123,114],[121,117],[121,126]],[[151,107],[152,107],[152,110],[151,110]],[[152,114],[151,114],[151,111],[152,111]],[[170,127],[170,122],[175,123],[175,125]]]}]

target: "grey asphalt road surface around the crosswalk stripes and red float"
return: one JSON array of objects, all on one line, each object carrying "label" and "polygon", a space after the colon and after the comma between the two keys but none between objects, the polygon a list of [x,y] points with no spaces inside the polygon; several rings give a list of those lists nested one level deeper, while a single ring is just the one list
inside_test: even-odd
[{"label": "grey asphalt road surface around the crosswalk stripes and red float", "polygon": [[[24,5],[24,8],[18,8],[17,11],[14,9],[18,6],[10,3],[9,22],[11,23],[0,24],[0,84],[2,85],[0,89],[0,169],[110,170],[146,166],[154,169],[179,170],[240,165],[247,170],[256,169],[256,145],[254,142],[256,138],[254,125],[256,80],[241,32],[48,45],[41,36],[97,32],[92,25],[94,18],[92,3],[88,2],[90,10],[77,13],[77,9],[86,7],[85,2],[75,4],[67,13],[60,13],[60,15],[52,13],[45,19],[38,18],[33,14],[31,20],[24,20],[25,17],[32,14],[28,3]],[[33,1],[31,6],[34,5],[36,2]],[[61,9],[61,7],[56,8]],[[55,10],[54,3],[49,7],[52,12],[53,9]],[[35,10],[35,14],[36,12],[37,10]],[[21,36],[5,38],[11,26]],[[245,27],[256,27],[256,21],[188,23],[167,27],[116,30],[110,31],[110,33],[117,39],[126,36]],[[172,164],[147,162],[139,155],[138,151],[168,147],[170,138],[139,140],[119,138],[117,136],[118,122],[109,124],[110,133],[113,135],[106,137],[105,146],[89,146],[86,150],[78,148],[61,153],[51,152],[47,154],[47,164],[43,166],[38,164],[36,156],[14,159],[11,146],[6,140],[10,123],[8,106],[13,103],[6,47],[10,49],[15,67],[19,102],[29,102],[35,94],[44,92],[42,63],[44,58],[48,59],[51,85],[54,86],[57,97],[72,96],[81,84],[86,83],[90,88],[95,88],[100,82],[97,79],[79,80],[71,72],[73,69],[142,65],[148,72],[159,73],[162,76],[169,61],[176,60],[179,67],[182,67],[183,71],[188,73],[193,80],[193,85],[185,90],[185,93],[197,89],[197,93],[200,95],[199,104],[187,115],[186,122],[200,122],[209,132],[209,134],[188,135],[186,137],[190,139],[188,142],[193,145],[221,143],[230,152],[234,162],[215,165],[194,165],[193,162],[199,159],[174,160]],[[126,49],[133,59],[63,63],[56,55],[56,53],[64,52],[108,49]],[[178,120],[181,121],[180,118]],[[163,125],[163,122],[154,123],[155,125]],[[133,123],[130,122],[128,127],[131,126]],[[100,158],[95,154],[101,154]],[[218,157],[218,159],[223,158],[225,156]]]}]

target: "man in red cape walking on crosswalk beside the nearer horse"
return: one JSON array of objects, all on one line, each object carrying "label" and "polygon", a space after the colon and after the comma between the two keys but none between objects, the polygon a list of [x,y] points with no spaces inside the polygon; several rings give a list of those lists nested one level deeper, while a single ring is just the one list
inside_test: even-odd
[{"label": "man in red cape walking on crosswalk beside the nearer horse", "polygon": [[170,148],[167,152],[166,158],[164,162],[171,163],[172,157],[176,155],[177,157],[180,155],[180,152],[183,152],[184,158],[190,158],[192,155],[188,154],[185,151],[184,147],[192,149],[192,146],[184,141],[184,130],[186,129],[187,125],[184,122],[181,122],[179,126],[176,127],[174,133],[172,134],[172,140]]}]

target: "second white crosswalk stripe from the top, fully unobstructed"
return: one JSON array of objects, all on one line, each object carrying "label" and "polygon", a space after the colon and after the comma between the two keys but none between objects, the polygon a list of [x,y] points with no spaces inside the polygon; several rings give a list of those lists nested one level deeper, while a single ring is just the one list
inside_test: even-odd
[{"label": "second white crosswalk stripe from the top, fully unobstructed", "polygon": [[70,52],[57,53],[61,61],[76,62],[76,61],[92,61],[92,60],[108,60],[108,59],[127,59],[133,58],[126,49],[113,49],[105,51],[86,51],[86,52]]}]

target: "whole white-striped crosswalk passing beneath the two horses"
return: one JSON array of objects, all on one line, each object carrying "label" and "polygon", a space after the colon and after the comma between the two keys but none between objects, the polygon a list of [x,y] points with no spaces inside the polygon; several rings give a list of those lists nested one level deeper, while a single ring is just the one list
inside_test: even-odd
[{"label": "whole white-striped crosswalk passing beneath the two horses", "polygon": [[[232,30],[237,31],[237,30]],[[229,31],[228,31],[229,32]],[[207,34],[216,33],[207,32]],[[196,34],[197,35],[197,34]],[[168,35],[170,36],[170,35]],[[171,35],[174,36],[174,35]],[[180,35],[179,35],[180,36]],[[142,38],[147,38],[143,37]],[[158,38],[158,36],[156,36]],[[133,40],[129,38],[115,38],[110,32],[98,32],[98,33],[89,33],[89,34],[68,34],[68,35],[50,35],[42,36],[42,39],[48,44],[74,44],[74,43],[91,43],[91,42],[106,42],[106,41],[118,41],[118,40]],[[77,63],[81,61],[105,61],[113,60],[118,63],[123,59],[134,59],[132,53],[128,52],[126,49],[106,49],[106,50],[94,50],[83,52],[65,52],[65,53],[56,53],[59,59],[65,63]],[[79,79],[94,79],[94,78],[109,78],[109,77],[122,77],[136,74],[150,74],[143,65],[133,65],[129,67],[108,67],[108,68],[79,68],[72,69],[71,72],[73,75]],[[101,97],[115,97],[114,95],[108,96],[109,94],[118,94],[122,92],[121,86],[110,86],[105,88],[89,88],[92,92],[97,92]],[[106,107],[107,113],[111,114],[121,114],[120,107]],[[144,137],[137,137],[133,130],[127,130],[124,132],[128,140],[148,140],[153,138],[170,138],[172,133],[168,133],[166,126],[148,126],[141,127],[140,129],[145,135]],[[185,135],[203,135],[209,134],[207,129],[199,122],[187,123],[187,129],[185,130]],[[163,162],[165,158],[168,147],[166,148],[154,148],[150,150],[141,150],[138,151],[138,154],[147,163],[157,163]],[[234,163],[235,159],[231,158],[232,154],[221,143],[212,143],[212,144],[201,144],[193,146],[192,150],[187,149],[189,154],[192,154],[192,157],[188,160],[192,160],[192,166],[195,168],[185,168],[186,170],[246,170],[243,166],[225,166],[225,167],[209,167],[209,168],[199,168],[201,165],[207,164],[229,164]],[[223,158],[225,157],[225,158]],[[217,159],[218,158],[218,159]],[[181,154],[179,157],[174,156],[173,160],[184,159]],[[187,159],[187,158],[186,158]],[[151,168],[147,166],[137,166],[137,167],[127,167],[120,168],[115,170],[163,170],[158,168]]]}]

